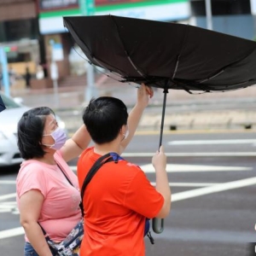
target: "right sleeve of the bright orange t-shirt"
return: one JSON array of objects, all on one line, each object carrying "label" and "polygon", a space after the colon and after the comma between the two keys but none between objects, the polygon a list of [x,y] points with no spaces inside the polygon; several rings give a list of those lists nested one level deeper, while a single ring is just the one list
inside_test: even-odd
[{"label": "right sleeve of the bright orange t-shirt", "polygon": [[163,196],[149,183],[145,173],[138,169],[125,194],[124,206],[147,218],[154,218],[163,204]]}]

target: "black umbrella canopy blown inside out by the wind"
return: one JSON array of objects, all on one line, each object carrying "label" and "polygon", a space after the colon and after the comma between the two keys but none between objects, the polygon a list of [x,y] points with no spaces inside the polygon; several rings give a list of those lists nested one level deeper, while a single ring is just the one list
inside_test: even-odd
[{"label": "black umbrella canopy blown inside out by the wind", "polygon": [[113,15],[64,17],[89,61],[120,81],[177,90],[256,84],[256,42],[196,26]]}]

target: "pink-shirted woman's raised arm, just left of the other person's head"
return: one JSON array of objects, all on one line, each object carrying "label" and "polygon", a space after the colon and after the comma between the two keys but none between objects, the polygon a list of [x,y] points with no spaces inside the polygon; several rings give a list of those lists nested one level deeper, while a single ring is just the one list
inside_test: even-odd
[{"label": "pink-shirted woman's raised arm, just left of the other person's head", "polygon": [[90,143],[90,134],[85,125],[82,125],[73,137],[67,140],[61,148],[61,154],[64,160],[69,161],[78,157]]}]

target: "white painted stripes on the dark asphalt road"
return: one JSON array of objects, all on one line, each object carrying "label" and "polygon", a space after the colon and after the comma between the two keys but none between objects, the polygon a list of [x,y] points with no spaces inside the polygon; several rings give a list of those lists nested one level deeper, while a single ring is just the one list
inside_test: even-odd
[{"label": "white painted stripes on the dark asphalt road", "polygon": [[[142,153],[143,154],[143,153]],[[217,153],[218,154],[218,153]],[[144,154],[145,155],[145,154]],[[124,155],[125,156],[125,155]],[[125,157],[129,156],[126,155]],[[130,154],[130,156],[132,156]],[[134,156],[134,154],[133,154]],[[152,154],[148,155],[152,157]],[[234,156],[234,154],[233,154]],[[77,171],[76,166],[70,166],[73,172]],[[140,166],[145,173],[154,173],[154,167],[152,164],[146,164]],[[253,172],[253,167],[250,166],[212,166],[212,165],[183,165],[183,164],[167,164],[166,171],[168,173],[185,173],[185,172]],[[252,175],[253,176],[253,175]],[[151,181],[152,185],[155,186],[155,181]],[[256,184],[256,177],[247,177],[240,180],[234,180],[226,183],[183,183],[170,182],[169,185],[173,187],[181,187],[186,190],[182,192],[172,193],[172,202],[189,200],[198,196],[210,195],[212,193],[224,192],[230,189],[239,189],[247,186],[252,186]],[[1,186],[12,186],[13,191],[15,191],[15,180],[0,180]],[[11,213],[13,215],[19,215],[17,209],[16,194],[9,193],[5,195],[0,195],[0,216],[1,214]],[[20,236],[24,234],[23,228],[15,228],[10,230],[0,230],[0,240],[12,236]]]}]

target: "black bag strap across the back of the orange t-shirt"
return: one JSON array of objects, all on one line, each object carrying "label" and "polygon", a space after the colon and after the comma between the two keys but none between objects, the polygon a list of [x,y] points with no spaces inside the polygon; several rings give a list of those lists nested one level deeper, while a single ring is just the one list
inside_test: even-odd
[{"label": "black bag strap across the back of the orange t-shirt", "polygon": [[84,216],[84,206],[83,206],[83,198],[84,198],[84,191],[87,187],[87,185],[90,183],[90,180],[92,179],[92,177],[94,177],[94,175],[96,174],[96,172],[105,164],[111,161],[114,161],[115,163],[118,163],[119,160],[123,160],[123,158],[121,158],[119,156],[119,154],[116,153],[108,153],[108,154],[104,154],[102,155],[98,160],[96,160],[96,162],[93,164],[93,166],[90,167],[90,171],[87,173],[86,177],[84,178],[84,183],[82,185],[82,189],[81,189],[81,199],[82,199],[82,203],[80,205],[81,210],[82,210],[82,215]]}]

